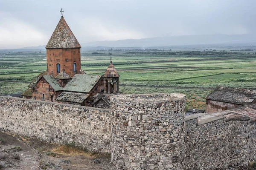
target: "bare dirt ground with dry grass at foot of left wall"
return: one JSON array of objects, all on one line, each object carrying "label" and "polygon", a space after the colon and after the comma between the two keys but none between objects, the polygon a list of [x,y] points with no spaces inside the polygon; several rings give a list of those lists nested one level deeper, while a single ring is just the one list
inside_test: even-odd
[{"label": "bare dirt ground with dry grass at foot of left wall", "polygon": [[118,170],[110,154],[69,153],[62,147],[0,131],[0,170]]}]

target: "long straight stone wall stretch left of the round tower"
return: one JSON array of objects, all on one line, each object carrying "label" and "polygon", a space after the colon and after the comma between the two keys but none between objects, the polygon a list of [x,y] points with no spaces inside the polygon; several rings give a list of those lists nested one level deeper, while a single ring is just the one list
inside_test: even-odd
[{"label": "long straight stone wall stretch left of the round tower", "polygon": [[50,142],[111,153],[110,110],[0,97],[0,127]]}]

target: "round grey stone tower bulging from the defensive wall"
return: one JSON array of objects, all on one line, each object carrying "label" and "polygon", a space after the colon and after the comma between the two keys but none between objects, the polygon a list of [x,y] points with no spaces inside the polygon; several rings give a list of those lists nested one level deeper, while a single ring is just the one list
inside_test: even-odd
[{"label": "round grey stone tower bulging from the defensive wall", "polygon": [[181,170],[185,95],[111,98],[112,161],[124,170]]}]

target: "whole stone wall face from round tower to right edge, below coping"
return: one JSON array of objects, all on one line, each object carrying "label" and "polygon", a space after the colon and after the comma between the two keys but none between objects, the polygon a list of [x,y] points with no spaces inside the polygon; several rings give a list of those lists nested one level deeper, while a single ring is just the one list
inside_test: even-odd
[{"label": "whole stone wall face from round tower to right edge, below coping", "polygon": [[247,170],[256,160],[256,123],[221,118],[186,121],[184,170]]}]

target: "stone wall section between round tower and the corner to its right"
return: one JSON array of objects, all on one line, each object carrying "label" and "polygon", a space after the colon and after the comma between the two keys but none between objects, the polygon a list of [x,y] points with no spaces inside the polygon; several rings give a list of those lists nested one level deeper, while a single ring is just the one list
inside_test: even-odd
[{"label": "stone wall section between round tower and the corner to its right", "polygon": [[229,165],[230,125],[223,119],[197,124],[186,121],[184,170],[225,170]]}]

